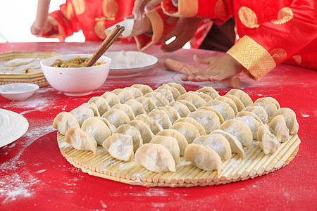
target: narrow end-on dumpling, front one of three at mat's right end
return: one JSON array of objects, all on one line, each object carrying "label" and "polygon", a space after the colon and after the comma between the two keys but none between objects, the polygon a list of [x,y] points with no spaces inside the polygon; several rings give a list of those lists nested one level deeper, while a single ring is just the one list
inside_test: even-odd
[{"label": "narrow end-on dumpling, front one of three at mat's right end", "polygon": [[261,141],[260,146],[264,154],[275,153],[278,151],[280,142],[271,134],[268,124],[262,124],[258,132],[258,141]]}]

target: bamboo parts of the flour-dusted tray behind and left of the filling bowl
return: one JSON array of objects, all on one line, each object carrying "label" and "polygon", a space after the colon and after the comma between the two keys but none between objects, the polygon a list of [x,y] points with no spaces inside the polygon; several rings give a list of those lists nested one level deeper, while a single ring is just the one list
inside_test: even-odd
[{"label": "bamboo parts of the flour-dusted tray behind and left of the filling bowl", "polygon": [[[48,58],[58,55],[60,54],[44,51],[10,51],[6,53],[0,53],[0,62],[13,58]],[[49,82],[46,81],[43,72],[32,72],[25,74],[1,74],[0,72],[0,85],[11,83],[32,83],[39,85],[39,87],[45,87],[49,85]]]}]

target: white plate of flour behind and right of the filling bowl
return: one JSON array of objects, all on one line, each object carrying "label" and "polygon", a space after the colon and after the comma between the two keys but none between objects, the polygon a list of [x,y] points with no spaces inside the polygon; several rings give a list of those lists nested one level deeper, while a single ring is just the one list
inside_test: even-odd
[{"label": "white plate of flour behind and right of the filling bowl", "polygon": [[108,77],[131,77],[147,71],[158,63],[159,59],[139,51],[108,51],[104,56],[111,58]]}]

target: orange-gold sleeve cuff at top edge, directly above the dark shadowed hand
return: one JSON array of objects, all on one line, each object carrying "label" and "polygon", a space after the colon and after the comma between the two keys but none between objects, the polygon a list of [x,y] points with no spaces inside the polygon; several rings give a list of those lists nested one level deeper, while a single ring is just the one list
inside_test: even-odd
[{"label": "orange-gold sleeve cuff at top edge, directly above the dark shadowed hand", "polygon": [[178,12],[168,13],[166,8],[163,6],[163,1],[161,2],[161,8],[163,12],[170,16],[191,18],[198,13],[198,1],[197,0],[178,0]]}]

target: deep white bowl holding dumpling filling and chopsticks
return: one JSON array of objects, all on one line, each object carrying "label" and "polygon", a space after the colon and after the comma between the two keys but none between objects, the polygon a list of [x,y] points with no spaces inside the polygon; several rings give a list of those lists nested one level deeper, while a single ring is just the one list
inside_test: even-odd
[{"label": "deep white bowl holding dumpling filling and chopsticks", "polygon": [[44,76],[54,89],[62,91],[67,96],[85,96],[101,87],[106,81],[111,65],[111,58],[101,56],[96,65],[87,68],[55,68],[51,67],[57,59],[70,60],[77,56],[90,58],[92,54],[68,54],[54,56],[41,60]]}]

